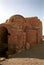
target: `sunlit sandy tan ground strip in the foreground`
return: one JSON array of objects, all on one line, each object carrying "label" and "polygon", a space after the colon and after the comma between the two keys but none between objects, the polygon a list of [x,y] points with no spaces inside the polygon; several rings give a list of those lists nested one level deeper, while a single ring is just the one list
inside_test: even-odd
[{"label": "sunlit sandy tan ground strip in the foreground", "polygon": [[11,58],[1,63],[2,65],[44,65],[44,60],[36,58]]}]

